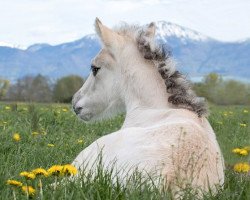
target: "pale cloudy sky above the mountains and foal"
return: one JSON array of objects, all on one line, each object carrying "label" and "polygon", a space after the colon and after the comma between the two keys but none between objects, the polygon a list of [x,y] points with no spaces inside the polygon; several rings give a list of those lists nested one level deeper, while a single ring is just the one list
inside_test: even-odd
[{"label": "pale cloudy sky above the mountains and foal", "polygon": [[169,21],[221,41],[250,38],[250,0],[0,0],[0,44],[74,41],[94,33],[96,17],[110,27]]}]

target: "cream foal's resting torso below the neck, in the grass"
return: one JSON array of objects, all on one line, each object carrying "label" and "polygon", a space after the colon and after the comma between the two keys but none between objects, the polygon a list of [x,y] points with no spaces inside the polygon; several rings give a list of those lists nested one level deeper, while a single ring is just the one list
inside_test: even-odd
[{"label": "cream foal's resting torso below the neck, in the grass", "polygon": [[120,180],[126,180],[136,169],[155,180],[163,177],[166,184],[182,182],[174,184],[173,190],[184,188],[188,181],[203,190],[223,183],[223,160],[206,119],[183,109],[148,110],[143,114],[152,119],[127,119],[121,130],[96,140],[72,164],[95,171],[93,166],[97,166],[101,153],[104,168],[112,167],[115,161]]}]

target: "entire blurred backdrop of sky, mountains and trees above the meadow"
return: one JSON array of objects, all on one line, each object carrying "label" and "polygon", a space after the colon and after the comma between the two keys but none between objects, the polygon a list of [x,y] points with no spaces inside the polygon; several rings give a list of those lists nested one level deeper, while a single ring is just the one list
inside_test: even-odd
[{"label": "entire blurred backdrop of sky, mountains and trees above the meadow", "polygon": [[250,105],[249,11],[247,0],[0,0],[0,101],[70,102],[100,50],[99,17],[156,22],[199,96]]}]

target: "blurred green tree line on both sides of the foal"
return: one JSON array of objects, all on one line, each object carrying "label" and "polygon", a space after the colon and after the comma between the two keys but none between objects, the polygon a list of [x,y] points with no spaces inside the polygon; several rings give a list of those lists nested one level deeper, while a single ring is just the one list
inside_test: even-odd
[{"label": "blurred green tree line on both sides of the foal", "polygon": [[[25,76],[15,83],[0,79],[0,100],[28,102],[71,102],[84,79],[70,75],[52,83],[45,76]],[[250,105],[250,85],[236,80],[224,80],[216,73],[208,74],[202,82],[194,83],[198,96],[218,105]]]}]

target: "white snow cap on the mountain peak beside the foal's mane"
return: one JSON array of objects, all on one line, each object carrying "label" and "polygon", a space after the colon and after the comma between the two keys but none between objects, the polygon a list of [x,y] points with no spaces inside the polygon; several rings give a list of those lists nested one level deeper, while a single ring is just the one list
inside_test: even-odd
[{"label": "white snow cap on the mountain peak beside the foal's mane", "polygon": [[163,41],[167,41],[167,38],[169,37],[193,41],[206,41],[209,39],[209,37],[202,35],[197,31],[170,22],[159,21],[156,23],[156,27],[158,39],[162,39]]}]

